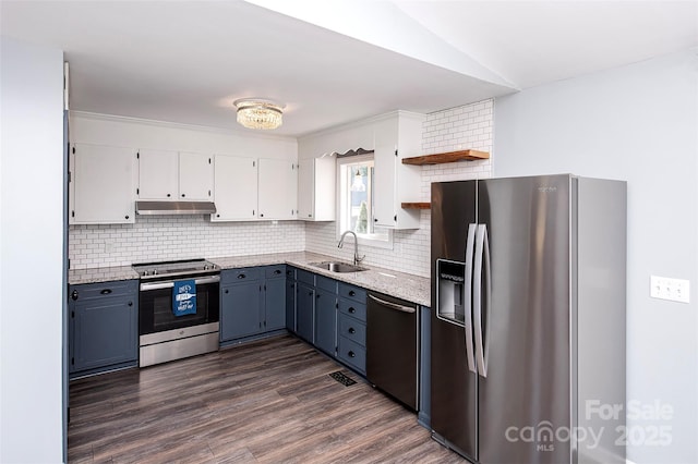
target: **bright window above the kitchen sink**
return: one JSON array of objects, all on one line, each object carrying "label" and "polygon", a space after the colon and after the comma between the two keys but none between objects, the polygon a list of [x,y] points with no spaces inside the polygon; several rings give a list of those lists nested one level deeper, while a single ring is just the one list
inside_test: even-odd
[{"label": "bright window above the kitchen sink", "polygon": [[374,168],[373,154],[353,156],[338,160],[339,220],[337,237],[345,231],[353,231],[359,243],[392,247],[390,231],[376,228],[373,221]]}]

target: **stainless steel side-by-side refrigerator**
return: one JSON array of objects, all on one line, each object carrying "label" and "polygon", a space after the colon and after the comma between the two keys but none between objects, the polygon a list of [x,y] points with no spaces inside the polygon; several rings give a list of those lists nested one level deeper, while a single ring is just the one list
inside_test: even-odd
[{"label": "stainless steel side-by-side refrigerator", "polygon": [[625,462],[626,184],[432,184],[431,426],[473,463]]}]

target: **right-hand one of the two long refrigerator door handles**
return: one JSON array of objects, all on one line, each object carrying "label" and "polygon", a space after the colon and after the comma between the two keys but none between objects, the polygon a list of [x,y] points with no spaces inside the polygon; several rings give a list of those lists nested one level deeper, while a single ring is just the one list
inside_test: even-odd
[{"label": "right-hand one of the two long refrigerator door handles", "polygon": [[[484,274],[483,274],[484,265]],[[477,237],[476,237],[476,264],[473,276],[473,331],[476,337],[476,361],[478,364],[478,371],[480,376],[488,377],[488,352],[490,347],[490,338],[485,337],[483,332],[483,326],[486,330],[490,320],[490,307],[491,307],[491,278],[492,272],[490,269],[490,241],[488,240],[488,227],[485,224],[478,224]],[[484,325],[482,313],[482,283],[484,280]]]}]

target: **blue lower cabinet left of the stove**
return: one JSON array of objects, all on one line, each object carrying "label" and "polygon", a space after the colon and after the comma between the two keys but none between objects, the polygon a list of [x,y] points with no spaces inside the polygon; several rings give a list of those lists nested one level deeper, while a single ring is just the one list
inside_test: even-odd
[{"label": "blue lower cabinet left of the stove", "polygon": [[136,366],[139,281],[71,285],[69,294],[70,377]]}]

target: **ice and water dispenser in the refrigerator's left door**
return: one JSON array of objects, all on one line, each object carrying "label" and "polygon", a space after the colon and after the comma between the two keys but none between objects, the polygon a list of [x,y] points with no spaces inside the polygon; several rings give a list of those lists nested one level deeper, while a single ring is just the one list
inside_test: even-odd
[{"label": "ice and water dispenser in the refrigerator's left door", "polygon": [[436,260],[436,316],[447,322],[465,326],[466,264]]}]

